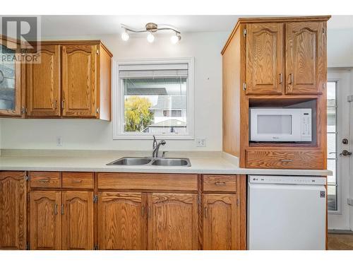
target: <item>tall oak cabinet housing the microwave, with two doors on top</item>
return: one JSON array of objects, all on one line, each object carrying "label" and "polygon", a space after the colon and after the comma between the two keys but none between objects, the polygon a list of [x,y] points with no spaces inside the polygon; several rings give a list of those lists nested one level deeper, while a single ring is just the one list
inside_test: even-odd
[{"label": "tall oak cabinet housing the microwave, with two doors on top", "polygon": [[[234,26],[221,52],[222,150],[237,156],[240,167],[326,169],[329,19],[239,18]],[[308,106],[313,113],[312,141],[249,140],[252,107],[300,106]]]}]

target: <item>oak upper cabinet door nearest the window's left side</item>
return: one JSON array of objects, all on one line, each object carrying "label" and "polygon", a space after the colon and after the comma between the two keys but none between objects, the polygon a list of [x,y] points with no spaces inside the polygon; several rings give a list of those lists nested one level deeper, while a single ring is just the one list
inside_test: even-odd
[{"label": "oak upper cabinet door nearest the window's left side", "polygon": [[97,45],[62,47],[64,117],[97,115]]}]

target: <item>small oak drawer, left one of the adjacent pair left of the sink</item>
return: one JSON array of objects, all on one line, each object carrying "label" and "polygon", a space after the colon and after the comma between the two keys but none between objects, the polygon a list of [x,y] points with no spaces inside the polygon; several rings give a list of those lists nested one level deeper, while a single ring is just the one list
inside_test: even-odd
[{"label": "small oak drawer, left one of the adjacent pair left of the sink", "polygon": [[60,172],[30,172],[31,188],[60,188],[61,177]]}]

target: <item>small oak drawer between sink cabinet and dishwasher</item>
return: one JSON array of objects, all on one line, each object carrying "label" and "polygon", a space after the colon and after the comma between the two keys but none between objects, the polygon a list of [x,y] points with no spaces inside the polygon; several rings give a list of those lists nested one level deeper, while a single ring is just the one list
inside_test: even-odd
[{"label": "small oak drawer between sink cabinet and dishwasher", "polygon": [[237,192],[237,176],[203,175],[204,192]]}]

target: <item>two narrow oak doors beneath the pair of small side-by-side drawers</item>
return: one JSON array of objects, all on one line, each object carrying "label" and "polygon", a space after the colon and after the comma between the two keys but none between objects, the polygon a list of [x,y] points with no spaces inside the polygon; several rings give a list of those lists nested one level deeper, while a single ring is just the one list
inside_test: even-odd
[{"label": "two narrow oak doors beneath the pair of small side-by-side drawers", "polygon": [[93,249],[93,192],[30,192],[30,249]]}]

